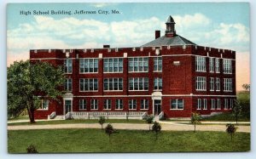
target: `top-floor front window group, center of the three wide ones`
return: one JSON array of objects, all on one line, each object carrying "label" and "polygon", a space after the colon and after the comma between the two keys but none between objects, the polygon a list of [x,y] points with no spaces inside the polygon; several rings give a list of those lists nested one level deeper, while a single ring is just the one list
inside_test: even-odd
[{"label": "top-floor front window group, center of the three wide ones", "polygon": [[104,72],[122,72],[122,71],[123,71],[123,59],[121,58],[104,59]]}]

